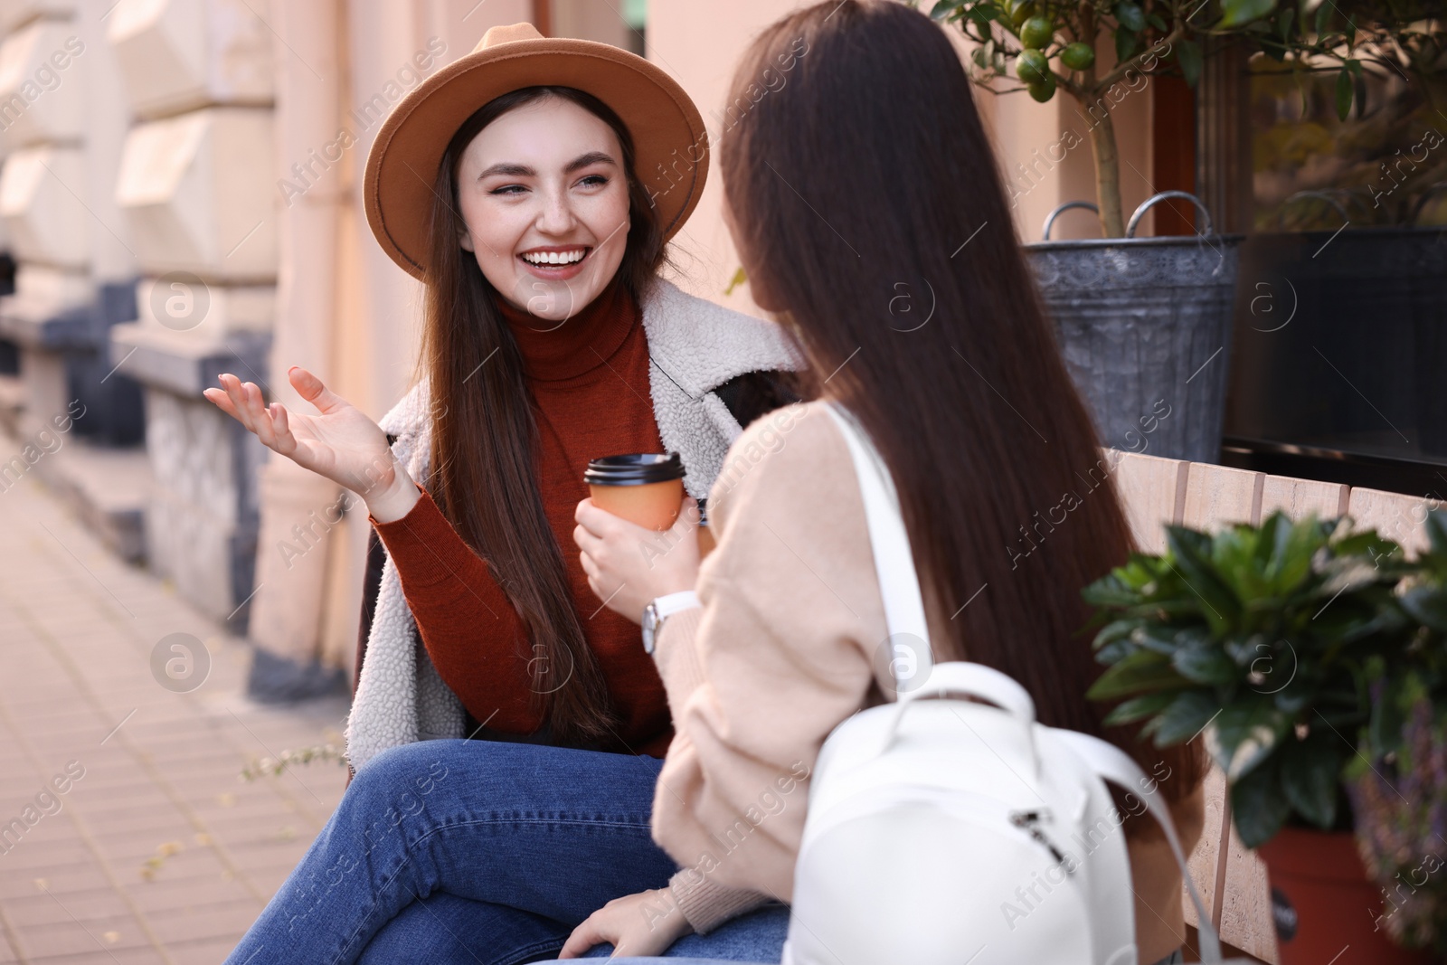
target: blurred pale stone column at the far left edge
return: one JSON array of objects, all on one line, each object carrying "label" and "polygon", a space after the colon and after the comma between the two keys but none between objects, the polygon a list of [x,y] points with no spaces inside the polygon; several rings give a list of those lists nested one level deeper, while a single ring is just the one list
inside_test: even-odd
[{"label": "blurred pale stone column at the far left edge", "polygon": [[71,437],[127,444],[140,440],[140,395],[109,378],[104,352],[107,330],[135,318],[135,259],[109,201],[124,109],[110,94],[103,12],[87,0],[0,4],[0,220],[19,262],[0,336],[20,346],[22,434],[69,407],[85,412]]}]

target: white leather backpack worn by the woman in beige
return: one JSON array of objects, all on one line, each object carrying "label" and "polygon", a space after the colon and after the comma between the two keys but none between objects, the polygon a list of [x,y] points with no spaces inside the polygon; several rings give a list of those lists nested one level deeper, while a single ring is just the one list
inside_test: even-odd
[{"label": "white leather backpack worn by the woman in beige", "polygon": [[1107,781],[1160,822],[1197,906],[1201,958],[1220,962],[1171,813],[1140,767],[1111,744],[1037,723],[1009,676],[932,663],[893,480],[854,418],[829,411],[864,495],[899,696],[823,744],[783,965],[1137,965]]}]

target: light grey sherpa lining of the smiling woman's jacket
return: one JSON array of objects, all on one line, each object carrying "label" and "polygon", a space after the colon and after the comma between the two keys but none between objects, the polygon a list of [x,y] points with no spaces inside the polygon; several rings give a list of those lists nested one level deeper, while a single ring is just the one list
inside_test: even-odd
[{"label": "light grey sherpa lining of the smiling woman's jacket", "polygon": [[[747,372],[799,369],[802,357],[777,326],[729,311],[658,281],[641,301],[648,337],[650,395],[664,447],[687,466],[689,495],[706,498],[742,427],[713,389]],[[427,385],[382,417],[392,451],[412,479],[425,479],[431,450]],[[368,635],[347,720],[347,760],[362,770],[389,747],[463,736],[463,706],[418,642],[391,557]]]}]

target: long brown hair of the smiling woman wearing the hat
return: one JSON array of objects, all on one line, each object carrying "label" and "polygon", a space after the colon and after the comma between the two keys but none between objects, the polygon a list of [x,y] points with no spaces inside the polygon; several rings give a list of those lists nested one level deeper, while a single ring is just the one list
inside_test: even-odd
[{"label": "long brown hair of the smiling woman wearing the hat", "polygon": [[[472,139],[511,110],[560,98],[603,120],[622,146],[628,178],[628,245],[618,281],[641,299],[663,262],[663,231],[634,172],[628,127],[596,97],[569,87],[528,87],[472,114],[443,155],[434,184],[427,256],[420,378],[431,389],[433,449],[428,490],[463,541],[488,561],[527,628],[534,707],[550,739],[596,747],[615,722],[598,658],[573,609],[561,550],[537,483],[537,427],[522,359],[501,295],[463,250],[457,168]],[[492,357],[496,353],[496,357]],[[486,632],[486,628],[480,628]],[[532,657],[540,658],[532,658]]]}]

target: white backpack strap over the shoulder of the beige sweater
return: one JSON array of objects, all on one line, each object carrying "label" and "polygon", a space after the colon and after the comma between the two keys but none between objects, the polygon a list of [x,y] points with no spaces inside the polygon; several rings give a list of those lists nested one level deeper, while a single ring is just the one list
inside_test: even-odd
[{"label": "white backpack strap over the shoulder of the beige sweater", "polygon": [[[874,571],[880,580],[880,596],[884,599],[884,622],[894,651],[890,674],[894,677],[897,692],[913,690],[929,679],[935,660],[929,645],[929,625],[925,621],[925,599],[920,596],[919,577],[915,574],[915,554],[909,548],[909,532],[900,515],[894,480],[854,415],[833,402],[823,402],[823,407],[848,443],[854,473],[860,479],[864,518],[874,550]],[[910,673],[900,674],[897,671],[900,666],[912,667]]]}]

